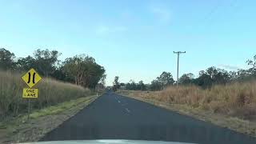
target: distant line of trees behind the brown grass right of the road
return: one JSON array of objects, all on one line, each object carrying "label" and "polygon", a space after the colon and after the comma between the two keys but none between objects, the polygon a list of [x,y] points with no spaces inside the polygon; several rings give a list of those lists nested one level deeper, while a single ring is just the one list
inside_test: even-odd
[{"label": "distant line of trees behind the brown grass right of the road", "polygon": [[[194,74],[182,74],[178,78],[178,84],[182,86],[194,85],[200,86],[203,89],[210,88],[214,85],[226,85],[230,82],[246,82],[256,78],[256,55],[253,59],[247,60],[246,64],[250,66],[248,70],[233,70],[227,71],[224,69],[211,66],[206,70],[199,71],[198,77],[195,78]],[[162,90],[166,86],[174,86],[173,75],[170,72],[162,72],[160,76],[154,79],[150,84],[144,84],[142,81],[136,83],[133,80],[127,83],[118,82],[118,76],[114,79],[114,90],[119,88],[126,90]]]}]

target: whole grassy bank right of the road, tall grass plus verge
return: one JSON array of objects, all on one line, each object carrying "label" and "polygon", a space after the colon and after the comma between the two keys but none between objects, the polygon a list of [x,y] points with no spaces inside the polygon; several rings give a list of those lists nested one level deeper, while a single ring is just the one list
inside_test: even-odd
[{"label": "whole grassy bank right of the road, tall grass plus verge", "polygon": [[170,86],[161,91],[118,93],[256,137],[255,81],[213,86],[208,90]]}]

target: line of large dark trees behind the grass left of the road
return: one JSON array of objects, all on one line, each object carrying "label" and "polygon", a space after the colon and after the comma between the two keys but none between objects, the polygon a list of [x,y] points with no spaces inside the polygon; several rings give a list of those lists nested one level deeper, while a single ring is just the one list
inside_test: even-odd
[{"label": "line of large dark trees behind the grass left of the road", "polygon": [[78,86],[95,89],[98,84],[105,85],[105,69],[98,65],[95,59],[78,54],[72,58],[59,60],[57,50],[35,50],[32,56],[16,58],[14,53],[4,48],[0,49],[0,70],[24,72],[34,68],[44,77],[55,78],[63,82],[74,83]]}]

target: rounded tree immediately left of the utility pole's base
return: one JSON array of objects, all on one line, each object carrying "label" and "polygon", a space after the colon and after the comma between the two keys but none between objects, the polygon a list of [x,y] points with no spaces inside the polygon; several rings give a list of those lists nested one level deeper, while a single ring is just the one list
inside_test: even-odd
[{"label": "rounded tree immediately left of the utility pole's base", "polygon": [[162,72],[162,74],[157,78],[158,82],[161,83],[161,89],[163,89],[165,86],[170,86],[174,84],[174,78],[173,75],[170,73],[167,73],[166,71]]}]

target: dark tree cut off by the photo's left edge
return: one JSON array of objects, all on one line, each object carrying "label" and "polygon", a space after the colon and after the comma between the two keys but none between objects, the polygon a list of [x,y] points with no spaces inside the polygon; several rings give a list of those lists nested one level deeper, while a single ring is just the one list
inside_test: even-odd
[{"label": "dark tree cut off by the photo's left edge", "polygon": [[14,58],[14,53],[11,53],[9,50],[4,48],[0,49],[0,69],[14,70],[16,66]]}]

